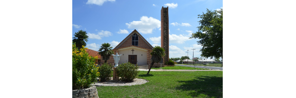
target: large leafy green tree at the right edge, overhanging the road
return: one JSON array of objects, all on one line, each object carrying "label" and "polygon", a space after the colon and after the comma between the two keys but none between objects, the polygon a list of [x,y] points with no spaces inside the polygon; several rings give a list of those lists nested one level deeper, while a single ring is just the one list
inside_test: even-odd
[{"label": "large leafy green tree at the right edge, overhanging the road", "polygon": [[210,11],[202,15],[198,26],[198,32],[193,33],[189,39],[197,38],[198,45],[202,46],[201,56],[215,58],[222,57],[223,59],[223,9]]}]

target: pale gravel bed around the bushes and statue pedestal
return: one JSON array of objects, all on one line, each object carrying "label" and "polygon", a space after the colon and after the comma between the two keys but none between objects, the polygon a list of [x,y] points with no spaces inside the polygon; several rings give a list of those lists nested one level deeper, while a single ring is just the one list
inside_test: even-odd
[{"label": "pale gravel bed around the bushes and statue pedestal", "polygon": [[[121,78],[121,77],[119,77]],[[99,78],[98,78],[99,79]],[[94,86],[132,86],[132,85],[142,85],[142,84],[145,84],[147,82],[149,82],[148,80],[145,80],[145,79],[134,79],[132,82],[123,82],[121,80],[119,81],[113,81],[113,78],[110,77],[111,80],[109,81],[106,81],[106,82],[97,82],[95,84],[92,84]]]}]

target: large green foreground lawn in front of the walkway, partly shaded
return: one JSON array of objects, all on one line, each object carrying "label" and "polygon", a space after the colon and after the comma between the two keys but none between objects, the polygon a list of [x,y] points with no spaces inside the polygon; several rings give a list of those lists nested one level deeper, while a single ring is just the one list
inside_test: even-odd
[{"label": "large green foreground lawn in front of the walkway, partly shaded", "polygon": [[149,82],[99,86],[99,98],[223,98],[223,71],[140,71]]}]

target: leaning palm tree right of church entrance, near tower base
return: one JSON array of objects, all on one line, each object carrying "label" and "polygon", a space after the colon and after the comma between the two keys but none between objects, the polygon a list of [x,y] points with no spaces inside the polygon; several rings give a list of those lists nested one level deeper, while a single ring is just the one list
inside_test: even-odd
[{"label": "leaning palm tree right of church entrance, near tower base", "polygon": [[161,47],[159,47],[159,46],[155,46],[155,47],[152,49],[152,52],[150,52],[150,54],[151,54],[151,56],[152,56],[152,57],[151,57],[152,62],[151,62],[151,66],[150,66],[150,68],[149,68],[147,74],[149,74],[150,69],[151,69],[151,67],[153,66],[153,64],[154,64],[155,62],[158,63],[158,62],[161,60],[161,57],[165,55],[165,53],[164,53],[164,49],[161,48]]}]

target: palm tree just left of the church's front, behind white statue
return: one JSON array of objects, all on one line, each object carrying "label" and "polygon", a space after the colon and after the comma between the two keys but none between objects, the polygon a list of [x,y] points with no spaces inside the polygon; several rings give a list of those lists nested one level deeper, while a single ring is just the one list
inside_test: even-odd
[{"label": "palm tree just left of the church's front, behind white statue", "polygon": [[104,63],[106,63],[110,56],[114,54],[114,51],[112,50],[113,47],[110,46],[111,45],[109,43],[103,43],[98,50],[98,54],[101,55],[103,60],[105,60]]}]

